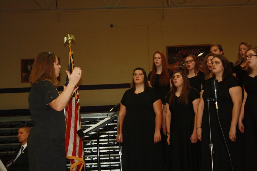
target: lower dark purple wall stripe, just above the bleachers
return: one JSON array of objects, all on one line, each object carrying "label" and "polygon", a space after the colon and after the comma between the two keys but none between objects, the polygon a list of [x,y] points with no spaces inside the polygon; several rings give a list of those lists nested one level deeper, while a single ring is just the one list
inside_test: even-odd
[{"label": "lower dark purple wall stripe, just above the bleachers", "polygon": [[[114,105],[108,106],[81,106],[80,113],[91,112],[107,112]],[[29,109],[12,109],[12,110],[0,110],[0,117],[10,116],[30,116]]]}]

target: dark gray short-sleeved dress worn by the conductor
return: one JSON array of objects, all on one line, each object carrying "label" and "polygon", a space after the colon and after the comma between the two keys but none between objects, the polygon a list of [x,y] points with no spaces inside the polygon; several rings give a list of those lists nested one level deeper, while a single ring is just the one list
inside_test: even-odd
[{"label": "dark gray short-sleeved dress worn by the conductor", "polygon": [[29,110],[33,128],[28,137],[29,170],[66,170],[64,112],[49,104],[59,93],[49,81],[33,84],[29,92]]}]

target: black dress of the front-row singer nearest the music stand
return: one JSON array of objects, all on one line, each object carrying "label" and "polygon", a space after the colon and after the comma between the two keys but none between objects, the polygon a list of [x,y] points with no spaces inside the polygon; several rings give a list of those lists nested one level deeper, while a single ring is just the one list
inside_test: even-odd
[{"label": "black dress of the front-row singer nearest the music stand", "polygon": [[127,110],[123,121],[122,170],[163,171],[162,141],[154,144],[153,103],[160,98],[153,88],[138,94],[131,90],[121,99]]}]

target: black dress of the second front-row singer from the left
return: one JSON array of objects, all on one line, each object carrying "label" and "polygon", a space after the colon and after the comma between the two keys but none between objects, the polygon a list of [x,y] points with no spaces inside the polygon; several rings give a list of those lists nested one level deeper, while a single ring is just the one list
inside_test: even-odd
[{"label": "black dress of the second front-row singer from the left", "polygon": [[[170,93],[167,96],[167,103]],[[178,102],[175,96],[174,104],[169,104],[171,112],[170,148],[171,171],[198,171],[198,147],[191,143],[190,137],[194,130],[194,108],[192,102],[200,98],[196,89],[190,88],[188,104]]]}]

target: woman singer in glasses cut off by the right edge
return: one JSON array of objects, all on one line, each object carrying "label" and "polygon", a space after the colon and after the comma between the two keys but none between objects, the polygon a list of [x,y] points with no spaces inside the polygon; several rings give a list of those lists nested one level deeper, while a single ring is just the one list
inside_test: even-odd
[{"label": "woman singer in glasses cut off by the right edge", "polygon": [[257,168],[257,47],[246,50],[246,75],[244,77],[244,100],[238,126],[244,133],[246,170]]}]

